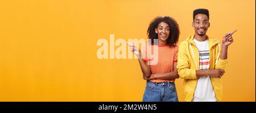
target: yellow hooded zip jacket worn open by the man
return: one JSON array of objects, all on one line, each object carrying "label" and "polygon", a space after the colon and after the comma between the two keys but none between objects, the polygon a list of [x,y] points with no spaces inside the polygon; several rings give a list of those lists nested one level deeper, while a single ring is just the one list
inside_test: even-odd
[{"label": "yellow hooded zip jacket worn open by the man", "polygon": [[[190,36],[187,40],[179,45],[179,52],[177,56],[177,71],[181,79],[184,79],[184,93],[185,101],[191,102],[195,93],[197,80],[196,70],[199,70],[199,50],[193,41],[194,36]],[[216,38],[209,38],[209,55],[210,55],[210,69],[225,69],[228,59],[220,59],[221,46],[220,41]],[[221,79],[210,77],[213,85],[213,90],[217,101],[222,99],[222,82]]]}]

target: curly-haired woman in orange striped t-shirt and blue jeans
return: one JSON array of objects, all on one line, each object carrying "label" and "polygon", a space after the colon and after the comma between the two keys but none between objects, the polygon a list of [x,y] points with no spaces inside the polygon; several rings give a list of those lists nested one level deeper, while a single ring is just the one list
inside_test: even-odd
[{"label": "curly-haired woman in orange striped t-shirt and blue jeans", "polygon": [[[179,100],[174,81],[179,78],[176,69],[179,25],[169,16],[157,17],[151,21],[147,34],[151,43],[142,47],[145,51],[130,46],[131,51],[138,56],[143,78],[147,80],[143,102],[177,102]],[[158,54],[148,54],[154,52],[154,47]]]}]

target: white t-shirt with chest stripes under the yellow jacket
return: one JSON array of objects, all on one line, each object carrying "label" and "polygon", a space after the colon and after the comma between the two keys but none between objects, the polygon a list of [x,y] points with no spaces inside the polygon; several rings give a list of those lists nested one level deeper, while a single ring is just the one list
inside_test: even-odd
[{"label": "white t-shirt with chest stripes under the yellow jacket", "polygon": [[[195,40],[195,38],[193,39],[193,41],[195,42],[196,47],[199,50],[199,69],[208,70],[210,66],[209,41],[197,41]],[[213,90],[212,82],[210,81],[209,76],[200,77],[198,79],[195,94],[192,101],[217,101]]]}]

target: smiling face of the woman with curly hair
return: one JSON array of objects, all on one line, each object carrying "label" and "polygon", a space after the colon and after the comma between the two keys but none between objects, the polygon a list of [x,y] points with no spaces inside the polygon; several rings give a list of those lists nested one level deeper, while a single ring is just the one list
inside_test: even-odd
[{"label": "smiling face of the woman with curly hair", "polygon": [[159,44],[166,44],[167,39],[170,35],[170,26],[167,23],[161,22],[155,29],[155,33],[158,34]]}]

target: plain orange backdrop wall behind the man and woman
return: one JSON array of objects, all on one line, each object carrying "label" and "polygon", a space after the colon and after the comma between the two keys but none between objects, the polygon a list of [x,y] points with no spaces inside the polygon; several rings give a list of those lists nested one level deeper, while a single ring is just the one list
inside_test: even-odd
[{"label": "plain orange backdrop wall behind the man and woman", "polygon": [[[195,8],[208,8],[208,36],[234,29],[222,101],[255,101],[255,1],[0,2],[0,101],[142,101],[146,82],[137,59],[98,59],[96,42],[147,38],[156,16],[172,16],[179,43],[194,30]],[[115,47],[116,49],[117,47]],[[183,80],[176,80],[184,101]]]}]

